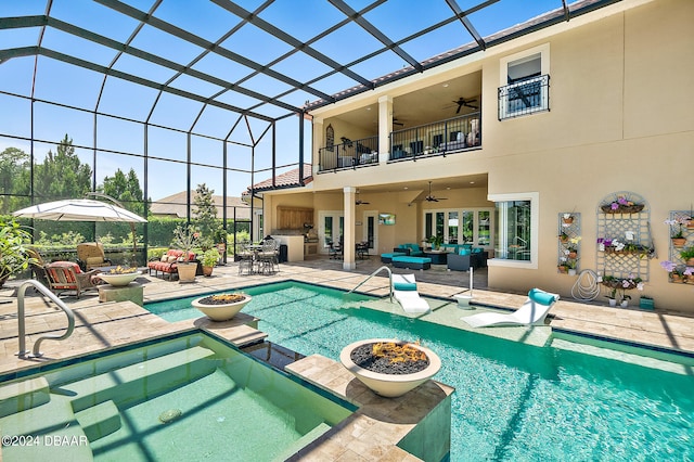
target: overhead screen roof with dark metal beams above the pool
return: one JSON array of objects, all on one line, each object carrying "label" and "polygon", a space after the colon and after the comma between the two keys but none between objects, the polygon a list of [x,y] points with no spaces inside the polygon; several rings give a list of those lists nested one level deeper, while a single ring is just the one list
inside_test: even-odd
[{"label": "overhead screen roof with dark metal beams above the pool", "polygon": [[0,73],[30,59],[22,89],[37,100],[41,86],[62,85],[39,75],[43,60],[95,73],[101,81],[85,87],[94,94],[70,104],[110,114],[115,86],[132,98],[119,115],[134,120],[151,121],[172,98],[197,114],[190,129],[210,107],[274,121],[617,1],[2,2]]}]

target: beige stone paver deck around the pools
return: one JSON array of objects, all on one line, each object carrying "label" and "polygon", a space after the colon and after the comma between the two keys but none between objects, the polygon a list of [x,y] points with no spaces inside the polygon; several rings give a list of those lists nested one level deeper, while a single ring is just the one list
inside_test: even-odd
[{"label": "beige stone paver deck around the pools", "polygon": [[[364,281],[364,274],[370,274],[381,266],[380,262],[373,261],[375,260],[374,257],[371,260],[358,264],[357,269],[352,271],[343,270],[342,261],[326,258],[299,264],[283,264],[280,266],[280,271],[273,275],[239,275],[236,264],[231,262],[227,266],[215,268],[215,272],[210,278],[197,277],[194,283],[181,284],[177,281],[162,280],[146,274],[138,278],[137,282],[144,287],[145,301],[185,297],[213,291],[286,280],[351,290]],[[408,273],[413,271],[394,269],[394,272]],[[430,304],[434,310],[432,313],[425,315],[427,320],[432,322],[462,330],[472,330],[460,318],[470,312],[487,309],[476,305],[475,310],[462,310],[458,308],[455,301],[451,298],[453,295],[466,291],[466,273],[447,272],[445,270],[414,271],[414,273],[419,282],[419,292],[424,296],[433,297]],[[476,275],[475,278],[479,277]],[[264,333],[253,329],[257,325],[255,324],[256,320],[243,312],[233,320],[223,323],[210,322],[206,318],[169,323],[131,301],[99,303],[98,293],[92,291],[82,294],[79,299],[74,296],[62,297],[75,312],[76,329],[69,338],[62,342],[47,339],[41,344],[41,349],[44,354],[42,358],[20,359],[16,356],[18,350],[16,287],[20,281],[10,281],[4,288],[0,290],[0,373],[2,374],[13,375],[14,372],[22,373],[21,371],[24,369],[47,361],[83,355],[192,329],[206,330],[231,341],[237,346],[250,344],[265,337]],[[484,285],[484,280],[480,279],[479,285],[477,281],[475,284],[476,287]],[[387,278],[374,277],[359,290],[373,295],[386,296],[388,293]],[[507,309],[519,307],[525,301],[525,295],[499,293],[486,288],[475,288],[474,291],[475,304]],[[375,309],[397,310],[397,305],[395,305],[395,308],[390,304],[382,305],[382,307],[375,307]],[[34,342],[40,335],[50,333],[60,335],[67,325],[65,315],[57,310],[47,298],[34,294],[33,290],[27,291],[25,310],[27,349],[31,349]],[[561,299],[552,308],[547,326],[531,329],[523,326],[491,328],[476,331],[487,335],[503,336],[518,342],[542,345],[550,336],[552,329],[646,345],[665,350],[694,354],[694,318],[692,317],[659,309],[645,311],[637,308],[609,308],[594,303],[579,303],[571,299]],[[323,360],[326,360],[330,364],[322,363]],[[325,460],[326,457],[333,460],[339,458],[344,458],[344,460],[416,460],[416,458],[395,447],[395,444],[402,437],[403,432],[412,427],[410,423],[407,425],[399,424],[391,416],[384,419],[387,424],[378,429],[378,434],[385,433],[390,436],[384,437],[378,441],[376,441],[378,438],[368,437],[368,432],[367,434],[364,433],[365,428],[376,428],[373,425],[381,422],[378,412],[385,412],[383,411],[383,406],[386,406],[386,408],[393,406],[395,407],[393,409],[397,409],[397,402],[377,398],[370,392],[364,394],[358,387],[357,390],[360,392],[358,395],[361,395],[361,397],[349,396],[348,389],[354,395],[355,386],[361,385],[356,380],[352,380],[351,375],[340,364],[326,358],[309,356],[292,364],[288,369],[293,373],[358,403],[360,407],[363,406],[365,409],[349,427],[336,431],[339,436],[331,437],[320,445],[313,446],[310,451],[301,454],[301,460]],[[445,385],[434,382],[432,384],[436,385],[440,399],[445,399],[452,393],[452,389]],[[430,395],[432,390],[428,390],[423,396],[428,396],[426,399],[430,399]],[[377,402],[374,405],[373,400],[364,399],[368,396],[375,397]],[[386,403],[384,405],[382,401],[386,401]],[[387,402],[390,402],[390,405]],[[375,408],[371,408],[373,406]],[[374,414],[373,409],[380,411]],[[400,407],[400,409],[402,408]]]}]

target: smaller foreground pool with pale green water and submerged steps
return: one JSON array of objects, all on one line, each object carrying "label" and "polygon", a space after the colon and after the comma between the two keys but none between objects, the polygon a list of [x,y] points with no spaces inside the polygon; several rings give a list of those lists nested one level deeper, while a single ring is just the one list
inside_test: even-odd
[{"label": "smaller foreground pool with pale green water and submerged steps", "polygon": [[172,336],[0,387],[2,460],[284,460],[352,411],[205,334]]}]

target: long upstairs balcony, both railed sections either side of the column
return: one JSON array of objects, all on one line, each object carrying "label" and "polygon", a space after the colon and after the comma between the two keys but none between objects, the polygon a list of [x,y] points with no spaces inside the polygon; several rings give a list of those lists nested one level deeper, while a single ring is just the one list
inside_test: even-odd
[{"label": "long upstairs balcony, both railed sections either side of the column", "polygon": [[[388,162],[414,161],[481,147],[481,113],[393,131]],[[378,165],[378,137],[349,140],[319,150],[318,171]]]}]

